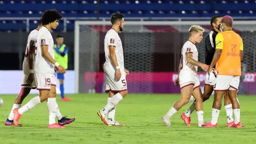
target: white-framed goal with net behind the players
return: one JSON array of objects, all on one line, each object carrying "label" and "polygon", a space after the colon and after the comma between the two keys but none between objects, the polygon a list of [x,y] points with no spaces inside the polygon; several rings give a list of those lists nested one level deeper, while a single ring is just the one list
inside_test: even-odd
[{"label": "white-framed goal with net behind the players", "polygon": [[[244,43],[244,60],[239,91],[256,93],[256,26],[255,21],[235,21],[234,30]],[[178,76],[180,52],[188,40],[191,25],[205,28],[204,38],[211,30],[210,21],[125,21],[119,33],[124,49],[129,93],[179,93],[173,81]],[[75,87],[76,93],[105,91],[104,38],[110,21],[75,22]],[[204,39],[196,44],[198,60],[205,62]],[[201,86],[205,73],[198,68]]]}]

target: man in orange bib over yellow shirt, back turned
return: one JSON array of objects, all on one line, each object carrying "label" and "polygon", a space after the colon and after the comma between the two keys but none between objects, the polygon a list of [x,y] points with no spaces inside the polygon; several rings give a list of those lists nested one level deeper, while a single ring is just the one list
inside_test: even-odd
[{"label": "man in orange bib over yellow shirt, back turned", "polygon": [[210,74],[213,66],[216,65],[218,71],[216,84],[213,86],[215,91],[212,105],[212,120],[203,127],[217,127],[220,114],[222,95],[228,90],[228,95],[233,106],[235,116],[234,124],[231,127],[241,128],[240,108],[237,100],[237,90],[239,77],[241,76],[241,60],[243,59],[242,38],[233,30],[233,18],[226,15],[221,20],[220,29],[215,38],[216,50],[213,56],[208,73]]}]

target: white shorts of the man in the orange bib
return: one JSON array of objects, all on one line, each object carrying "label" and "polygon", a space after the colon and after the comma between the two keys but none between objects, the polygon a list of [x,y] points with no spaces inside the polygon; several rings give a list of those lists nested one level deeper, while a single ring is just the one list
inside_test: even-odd
[{"label": "white shorts of the man in the orange bib", "polygon": [[214,91],[238,90],[240,76],[217,75]]}]

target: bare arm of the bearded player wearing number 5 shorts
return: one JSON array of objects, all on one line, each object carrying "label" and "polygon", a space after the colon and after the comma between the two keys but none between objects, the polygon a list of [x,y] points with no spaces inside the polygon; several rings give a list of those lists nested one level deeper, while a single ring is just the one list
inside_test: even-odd
[{"label": "bare arm of the bearded player wearing number 5 shorts", "polygon": [[115,52],[116,47],[113,45],[110,45],[108,47],[109,47],[110,59],[111,59],[113,65],[116,67],[115,80],[119,81],[119,79],[122,76],[122,73],[121,73],[120,67],[118,66],[118,63],[117,63],[116,52]]}]

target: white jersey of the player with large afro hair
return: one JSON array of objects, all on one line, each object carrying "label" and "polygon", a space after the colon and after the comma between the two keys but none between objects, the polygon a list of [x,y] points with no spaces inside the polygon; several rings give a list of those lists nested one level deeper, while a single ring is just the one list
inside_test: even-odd
[{"label": "white jersey of the player with large afro hair", "polygon": [[54,50],[53,50],[53,38],[50,31],[46,27],[42,27],[37,36],[37,52],[36,60],[34,65],[35,73],[53,73],[54,66],[43,56],[42,45],[48,45],[48,52],[51,57],[54,59]]}]

